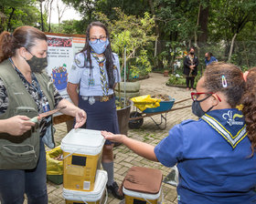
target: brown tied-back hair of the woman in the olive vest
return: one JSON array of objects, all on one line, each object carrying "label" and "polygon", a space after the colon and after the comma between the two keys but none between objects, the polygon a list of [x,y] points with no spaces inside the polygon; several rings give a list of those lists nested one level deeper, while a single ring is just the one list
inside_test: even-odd
[{"label": "brown tied-back hair of the woman in the olive vest", "polygon": [[37,39],[47,41],[47,36],[32,26],[17,27],[12,35],[4,31],[0,35],[0,62],[10,56],[15,56],[16,49],[20,47],[31,50],[32,46],[36,46]]}]

